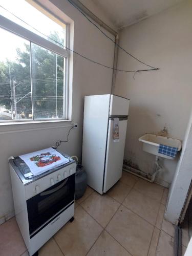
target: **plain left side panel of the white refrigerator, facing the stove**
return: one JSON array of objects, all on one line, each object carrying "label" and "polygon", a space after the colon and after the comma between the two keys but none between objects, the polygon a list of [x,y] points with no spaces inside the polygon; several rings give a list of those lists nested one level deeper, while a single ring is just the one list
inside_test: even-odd
[{"label": "plain left side panel of the white refrigerator, facing the stove", "polygon": [[88,185],[100,194],[103,191],[109,104],[109,94],[84,98],[82,165],[88,175]]}]

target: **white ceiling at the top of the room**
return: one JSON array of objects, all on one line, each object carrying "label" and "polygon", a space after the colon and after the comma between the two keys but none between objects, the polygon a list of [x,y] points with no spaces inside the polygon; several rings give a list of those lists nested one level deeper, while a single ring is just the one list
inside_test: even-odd
[{"label": "white ceiling at the top of the room", "polygon": [[[101,9],[118,29],[157,14],[182,0],[89,0]],[[86,1],[84,1],[86,2]]]}]

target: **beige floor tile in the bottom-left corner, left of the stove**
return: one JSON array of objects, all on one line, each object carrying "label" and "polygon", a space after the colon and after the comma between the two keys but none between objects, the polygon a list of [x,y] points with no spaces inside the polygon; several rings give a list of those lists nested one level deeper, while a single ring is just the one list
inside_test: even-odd
[{"label": "beige floor tile in the bottom-left corner, left of the stove", "polygon": [[0,225],[0,255],[21,255],[26,251],[22,234],[18,228],[15,218]]}]

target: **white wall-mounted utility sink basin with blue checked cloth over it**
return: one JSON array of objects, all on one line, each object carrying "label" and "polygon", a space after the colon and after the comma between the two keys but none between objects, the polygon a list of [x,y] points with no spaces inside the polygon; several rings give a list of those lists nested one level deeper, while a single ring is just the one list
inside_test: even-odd
[{"label": "white wall-mounted utility sink basin with blue checked cloth over it", "polygon": [[163,144],[166,146],[178,147],[178,151],[181,150],[181,146],[182,146],[181,140],[167,138],[164,136],[159,136],[159,135],[149,134],[149,133],[141,136],[139,138],[139,141],[143,142],[144,151],[159,157],[166,158],[166,159],[174,159],[175,157],[159,154],[158,150],[159,150],[160,144]]}]

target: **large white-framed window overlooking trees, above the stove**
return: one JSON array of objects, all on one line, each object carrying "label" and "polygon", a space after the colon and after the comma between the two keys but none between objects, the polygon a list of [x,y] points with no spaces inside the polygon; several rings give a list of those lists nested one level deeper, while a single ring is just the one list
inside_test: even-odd
[{"label": "large white-framed window overlooking trees, above the stove", "polygon": [[68,25],[28,2],[0,4],[0,122],[67,119]]}]

